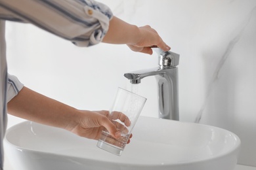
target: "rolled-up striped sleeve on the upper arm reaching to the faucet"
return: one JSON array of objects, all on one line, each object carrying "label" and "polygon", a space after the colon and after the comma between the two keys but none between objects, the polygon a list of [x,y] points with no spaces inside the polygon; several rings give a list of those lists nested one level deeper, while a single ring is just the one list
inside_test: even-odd
[{"label": "rolled-up striped sleeve on the upper arm reaching to the faucet", "polygon": [[0,0],[1,19],[37,25],[77,46],[101,42],[112,16],[93,0]]}]

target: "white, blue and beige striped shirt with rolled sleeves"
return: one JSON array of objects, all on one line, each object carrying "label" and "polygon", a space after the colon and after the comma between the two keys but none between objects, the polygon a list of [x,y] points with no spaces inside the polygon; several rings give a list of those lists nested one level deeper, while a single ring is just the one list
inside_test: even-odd
[{"label": "white, blue and beige striped shirt with rolled sleeves", "polygon": [[108,31],[111,10],[93,0],[0,0],[0,170],[7,102],[23,88],[7,73],[5,20],[36,25],[77,46],[92,46]]}]

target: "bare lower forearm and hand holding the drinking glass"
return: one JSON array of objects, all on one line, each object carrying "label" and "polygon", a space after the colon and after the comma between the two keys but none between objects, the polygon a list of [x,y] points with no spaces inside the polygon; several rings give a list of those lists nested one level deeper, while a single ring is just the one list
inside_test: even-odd
[{"label": "bare lower forearm and hand holding the drinking glass", "polygon": [[98,139],[104,127],[112,136],[120,136],[108,119],[108,111],[77,110],[26,87],[9,101],[7,110],[14,116],[60,127],[89,139]]}]

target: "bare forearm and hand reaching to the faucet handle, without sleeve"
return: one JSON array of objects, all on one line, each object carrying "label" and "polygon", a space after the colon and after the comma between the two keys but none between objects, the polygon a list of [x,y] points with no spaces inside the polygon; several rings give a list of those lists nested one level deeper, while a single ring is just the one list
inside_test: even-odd
[{"label": "bare forearm and hand reaching to the faucet handle, without sleeve", "polygon": [[127,44],[131,50],[147,54],[152,54],[150,46],[158,46],[164,51],[171,49],[149,25],[137,27],[115,16],[110,20],[108,32],[102,42]]}]

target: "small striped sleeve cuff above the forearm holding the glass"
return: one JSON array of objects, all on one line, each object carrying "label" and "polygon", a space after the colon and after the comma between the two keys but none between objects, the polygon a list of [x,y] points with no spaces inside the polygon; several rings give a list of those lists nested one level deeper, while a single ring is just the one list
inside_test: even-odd
[{"label": "small striped sleeve cuff above the forearm holding the glass", "polygon": [[24,84],[22,84],[16,76],[9,75],[7,78],[7,103],[22,90]]}]

